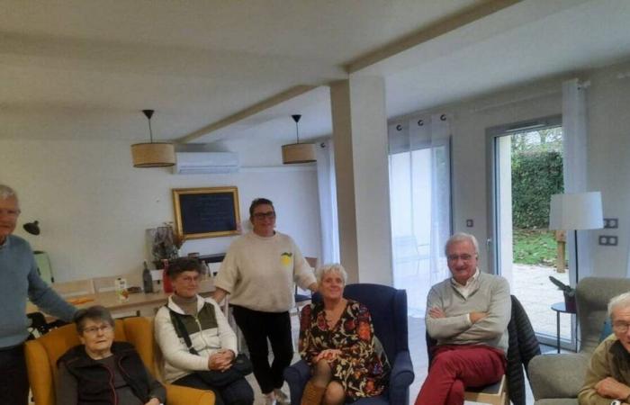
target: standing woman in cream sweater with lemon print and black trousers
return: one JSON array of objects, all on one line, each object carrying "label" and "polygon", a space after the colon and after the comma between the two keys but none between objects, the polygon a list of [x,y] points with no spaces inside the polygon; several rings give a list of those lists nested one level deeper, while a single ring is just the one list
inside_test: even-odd
[{"label": "standing woman in cream sweater with lemon print and black trousers", "polygon": [[[249,355],[266,403],[288,403],[281,390],[284,368],[293,358],[289,310],[294,306],[293,283],[317,291],[311,266],[293,239],[275,230],[274,203],[257,198],[249,206],[254,229],[229,246],[214,280],[213,294],[221,302],[229,294],[234,319],[249,348]],[[267,339],[274,361],[269,365]]]}]

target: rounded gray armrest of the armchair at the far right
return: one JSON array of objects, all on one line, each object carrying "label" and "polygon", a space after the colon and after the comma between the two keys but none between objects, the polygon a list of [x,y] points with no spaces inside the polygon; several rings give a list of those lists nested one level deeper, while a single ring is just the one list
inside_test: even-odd
[{"label": "rounded gray armrest of the armchair at the far right", "polygon": [[534,399],[577,398],[589,361],[579,353],[534,357],[527,370]]}]

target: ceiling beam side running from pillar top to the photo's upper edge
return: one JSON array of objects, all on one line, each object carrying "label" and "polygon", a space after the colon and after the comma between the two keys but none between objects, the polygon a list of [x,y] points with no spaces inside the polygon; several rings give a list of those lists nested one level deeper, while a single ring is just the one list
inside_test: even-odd
[{"label": "ceiling beam side running from pillar top to the photo's upper edge", "polygon": [[413,32],[400,40],[395,40],[382,48],[368,52],[348,62],[344,68],[348,74],[355,73],[358,70],[374,65],[386,58],[392,58],[392,56],[404,52],[405,50],[433,40],[448,32],[455,31],[469,23],[474,23],[477,20],[481,20],[483,17],[494,14],[521,1],[523,0],[486,0],[482,4],[473,4],[456,14],[431,23],[427,27]]}]

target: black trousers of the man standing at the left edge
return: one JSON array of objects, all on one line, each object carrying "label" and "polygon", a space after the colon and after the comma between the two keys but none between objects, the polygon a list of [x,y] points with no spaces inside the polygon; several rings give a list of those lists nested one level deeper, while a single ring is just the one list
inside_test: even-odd
[{"label": "black trousers of the man standing at the left edge", "polygon": [[26,405],[28,399],[24,345],[0,348],[0,404]]}]

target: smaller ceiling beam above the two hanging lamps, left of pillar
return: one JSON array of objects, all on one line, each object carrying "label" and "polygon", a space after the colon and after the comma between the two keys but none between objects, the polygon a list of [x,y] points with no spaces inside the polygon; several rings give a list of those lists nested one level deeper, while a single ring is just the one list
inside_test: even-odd
[{"label": "smaller ceiling beam above the two hanging lamps, left of pillar", "polygon": [[252,115],[257,114],[258,112],[263,112],[266,109],[271,108],[279,103],[284,103],[287,100],[291,100],[293,97],[297,97],[298,95],[310,92],[312,89],[317,88],[317,87],[318,87],[317,85],[296,85],[294,87],[291,87],[288,90],[285,90],[282,93],[272,95],[271,97],[266,98],[265,100],[259,103],[250,105],[244,110],[235,112],[232,115],[229,115],[220,121],[212,122],[211,124],[206,125],[205,127],[199,130],[195,130],[194,132],[189,133],[188,135],[184,135],[181,138],[177,138],[175,139],[175,143],[192,142],[194,139],[199,139],[202,136],[207,135],[214,130],[220,130],[221,128],[225,128],[228,125],[231,125],[235,122],[245,120],[247,117],[251,117]]}]

